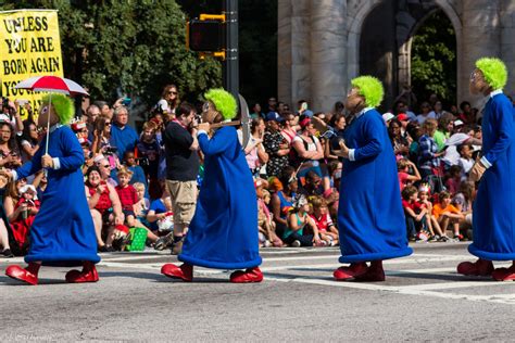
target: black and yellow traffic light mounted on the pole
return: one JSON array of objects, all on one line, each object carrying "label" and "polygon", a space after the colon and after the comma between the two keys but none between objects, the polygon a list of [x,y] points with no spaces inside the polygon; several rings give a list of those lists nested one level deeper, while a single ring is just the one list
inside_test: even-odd
[{"label": "black and yellow traffic light mounted on the pole", "polygon": [[225,14],[201,14],[186,26],[186,48],[225,60]]}]

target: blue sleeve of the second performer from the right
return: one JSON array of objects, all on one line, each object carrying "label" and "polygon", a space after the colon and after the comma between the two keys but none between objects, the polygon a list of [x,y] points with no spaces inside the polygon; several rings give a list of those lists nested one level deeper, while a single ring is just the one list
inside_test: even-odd
[{"label": "blue sleeve of the second performer from the right", "polygon": [[[366,115],[366,114],[365,114]],[[363,124],[362,134],[365,139],[365,145],[354,150],[354,160],[372,158],[381,153],[385,149],[385,142],[390,139],[386,136],[386,127],[382,118],[376,113],[370,113]]]}]

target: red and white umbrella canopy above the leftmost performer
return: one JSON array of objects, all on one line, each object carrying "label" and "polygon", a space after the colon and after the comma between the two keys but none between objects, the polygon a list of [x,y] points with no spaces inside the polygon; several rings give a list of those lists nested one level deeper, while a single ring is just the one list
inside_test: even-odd
[{"label": "red and white umbrella canopy above the leftmost performer", "polygon": [[51,75],[29,77],[14,86],[14,88],[28,89],[32,91],[58,92],[67,96],[89,96],[88,92],[77,82],[64,77]]}]

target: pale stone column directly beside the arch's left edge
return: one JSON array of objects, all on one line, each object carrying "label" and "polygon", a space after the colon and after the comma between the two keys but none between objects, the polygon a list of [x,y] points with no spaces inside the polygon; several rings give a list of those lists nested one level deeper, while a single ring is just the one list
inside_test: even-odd
[{"label": "pale stone column directly beside the arch's left edge", "polygon": [[311,1],[311,104],[330,111],[347,87],[347,0]]}]

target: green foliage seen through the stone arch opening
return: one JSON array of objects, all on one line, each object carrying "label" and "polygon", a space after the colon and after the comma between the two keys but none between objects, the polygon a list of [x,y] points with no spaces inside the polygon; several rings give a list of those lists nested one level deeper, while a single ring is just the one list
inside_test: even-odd
[{"label": "green foliage seen through the stone arch opening", "polygon": [[413,37],[412,85],[419,100],[436,93],[449,104],[456,101],[456,37],[442,11],[430,15]]}]

